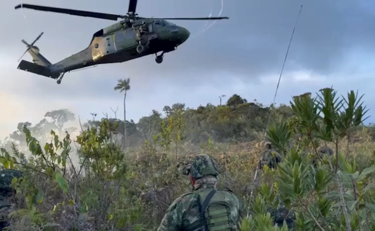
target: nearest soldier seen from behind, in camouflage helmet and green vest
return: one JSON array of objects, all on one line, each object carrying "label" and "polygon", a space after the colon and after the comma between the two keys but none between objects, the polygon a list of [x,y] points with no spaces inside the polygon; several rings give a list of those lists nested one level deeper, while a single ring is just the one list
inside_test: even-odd
[{"label": "nearest soldier seen from behind, in camouflage helmet and green vest", "polygon": [[229,190],[217,190],[218,166],[213,157],[197,155],[186,166],[192,192],[175,199],[157,231],[235,231],[239,199]]}]

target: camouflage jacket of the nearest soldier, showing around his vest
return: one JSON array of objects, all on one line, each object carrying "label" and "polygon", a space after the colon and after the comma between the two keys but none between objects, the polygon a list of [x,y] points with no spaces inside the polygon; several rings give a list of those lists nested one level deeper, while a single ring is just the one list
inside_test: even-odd
[{"label": "camouflage jacket of the nearest soldier, showing around his vest", "polygon": [[[193,192],[197,192],[198,190],[202,190],[205,188],[213,189],[213,185],[202,185],[197,189],[193,190]],[[229,216],[231,220],[237,224],[240,212],[239,199],[230,190],[225,191],[227,192],[225,200],[232,207],[232,211]],[[197,194],[193,192],[185,193],[177,199],[175,199],[174,202],[172,202],[172,204],[166,211],[157,231],[180,231],[183,230],[185,227],[189,226],[190,224],[201,219],[198,204],[196,203],[196,199],[198,197]]]}]

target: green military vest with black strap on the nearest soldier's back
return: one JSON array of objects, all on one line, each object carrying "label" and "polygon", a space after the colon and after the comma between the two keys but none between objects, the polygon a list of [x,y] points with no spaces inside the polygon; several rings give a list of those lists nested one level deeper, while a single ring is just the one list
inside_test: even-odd
[{"label": "green military vest with black strap on the nearest soldier's back", "polygon": [[236,224],[231,221],[231,206],[225,201],[226,191],[202,189],[193,192],[198,195],[201,219],[183,229],[183,231],[234,231]]}]

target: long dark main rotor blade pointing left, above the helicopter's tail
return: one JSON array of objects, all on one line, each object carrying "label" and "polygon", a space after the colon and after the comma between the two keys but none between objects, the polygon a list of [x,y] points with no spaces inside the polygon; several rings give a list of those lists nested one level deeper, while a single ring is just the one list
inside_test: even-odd
[{"label": "long dark main rotor blade pointing left, above the helicopter's tail", "polygon": [[117,21],[118,18],[124,18],[122,15],[113,15],[109,13],[72,10],[72,9],[56,8],[56,7],[49,7],[49,6],[37,6],[37,5],[30,5],[30,4],[23,4],[23,3],[14,7],[14,9],[19,9],[19,8],[28,8],[28,9],[34,9],[34,10],[56,12],[56,13],[67,13],[70,15],[77,15],[77,16],[91,17],[91,18],[102,18],[102,19],[108,19],[108,20],[114,20],[114,21]]}]

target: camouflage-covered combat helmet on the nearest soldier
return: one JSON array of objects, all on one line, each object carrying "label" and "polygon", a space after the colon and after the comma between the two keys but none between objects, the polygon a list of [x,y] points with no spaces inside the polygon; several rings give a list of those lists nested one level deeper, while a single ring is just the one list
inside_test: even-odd
[{"label": "camouflage-covered combat helmet on the nearest soldier", "polygon": [[219,175],[219,167],[212,156],[199,154],[193,157],[185,167],[185,175],[191,174],[197,180],[207,175]]}]

